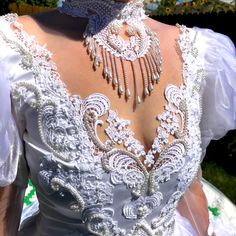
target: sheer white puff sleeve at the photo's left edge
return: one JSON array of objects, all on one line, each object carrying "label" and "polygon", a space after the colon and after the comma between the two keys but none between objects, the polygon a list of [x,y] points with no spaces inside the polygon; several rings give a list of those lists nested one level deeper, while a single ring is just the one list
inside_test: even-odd
[{"label": "sheer white puff sleeve at the photo's left edge", "polygon": [[12,183],[17,175],[22,144],[11,110],[10,82],[0,63],[0,186]]}]

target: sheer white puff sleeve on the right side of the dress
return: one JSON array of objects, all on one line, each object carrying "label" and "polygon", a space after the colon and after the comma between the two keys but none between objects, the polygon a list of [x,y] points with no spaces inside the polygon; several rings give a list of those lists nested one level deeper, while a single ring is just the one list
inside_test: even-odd
[{"label": "sheer white puff sleeve on the right side of the dress", "polygon": [[236,129],[236,51],[227,36],[195,29],[205,71],[200,123],[204,153],[212,139],[220,139]]}]

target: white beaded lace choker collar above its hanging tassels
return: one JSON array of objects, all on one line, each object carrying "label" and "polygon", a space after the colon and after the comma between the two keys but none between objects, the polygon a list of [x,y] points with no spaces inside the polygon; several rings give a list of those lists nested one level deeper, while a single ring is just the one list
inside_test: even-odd
[{"label": "white beaded lace choker collar above its hanging tassels", "polygon": [[[80,16],[89,19],[85,32],[85,37],[89,36],[88,44],[90,44],[91,37],[94,36],[98,45],[105,47],[112,55],[134,61],[144,56],[151,44],[151,37],[147,34],[142,23],[142,20],[146,18],[142,2],[143,0],[135,0],[124,4],[103,0],[73,0],[65,1],[59,10],[74,17]],[[104,15],[106,17],[103,17]],[[111,28],[110,22],[113,22]],[[116,36],[123,23],[130,26],[127,33],[133,37],[129,41]],[[108,32],[114,32],[114,34]],[[135,36],[136,32],[140,35],[139,37]],[[109,39],[107,39],[107,35],[110,36]],[[96,48],[94,49],[96,50]],[[93,51],[92,45],[91,51]],[[101,61],[101,58],[101,55],[98,56],[97,63]]]}]

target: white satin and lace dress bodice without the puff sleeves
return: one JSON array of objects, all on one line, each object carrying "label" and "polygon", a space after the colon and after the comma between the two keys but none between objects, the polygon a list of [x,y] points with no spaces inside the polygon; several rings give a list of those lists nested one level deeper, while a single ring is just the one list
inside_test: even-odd
[{"label": "white satin and lace dress bodice without the puff sleeves", "polygon": [[[157,114],[160,125],[145,152],[130,122],[111,110],[106,96],[69,95],[50,53],[22,30],[16,17],[1,22],[16,27],[9,35],[0,31],[0,42],[12,51],[9,60],[17,62],[11,72],[12,98],[25,119],[25,157],[42,217],[68,224],[70,230],[64,227],[61,235],[171,235],[178,201],[196,176],[202,152],[203,72],[194,30],[180,27],[183,84],[165,89],[165,112]],[[107,141],[102,142],[96,130],[105,116]]]}]

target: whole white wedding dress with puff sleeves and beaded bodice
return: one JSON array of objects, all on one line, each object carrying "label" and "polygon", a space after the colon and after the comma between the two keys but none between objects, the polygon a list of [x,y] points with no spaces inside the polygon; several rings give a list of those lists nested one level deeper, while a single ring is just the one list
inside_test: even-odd
[{"label": "whole white wedding dress with puff sleeves and beaded bodice", "polygon": [[[198,235],[177,206],[183,196],[188,202],[210,140],[236,128],[235,48],[224,35],[184,26],[178,46],[183,84],[165,89],[153,148],[167,147],[147,171],[138,158],[141,143],[109,98],[70,95],[50,51],[17,15],[0,17],[0,186],[26,186],[30,177],[39,201],[19,235]],[[96,127],[105,115],[102,143]],[[173,132],[178,138],[168,143]],[[232,228],[213,230],[235,235]]]}]

